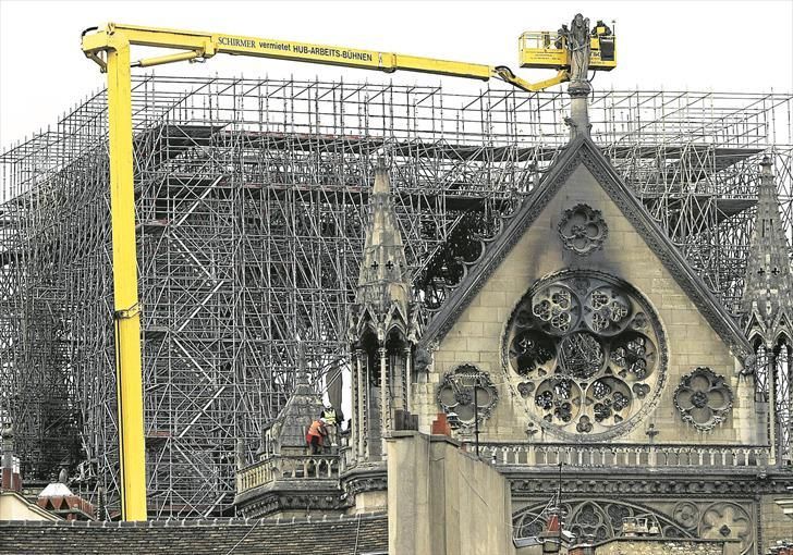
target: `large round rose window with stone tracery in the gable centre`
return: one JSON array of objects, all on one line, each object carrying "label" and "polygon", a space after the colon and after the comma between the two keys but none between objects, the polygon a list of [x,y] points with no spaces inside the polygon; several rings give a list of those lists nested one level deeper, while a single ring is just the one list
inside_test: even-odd
[{"label": "large round rose window with stone tracery in the gable centre", "polygon": [[534,285],[510,318],[502,353],[532,420],[570,440],[630,430],[658,402],[667,365],[663,331],[647,300],[588,270]]}]

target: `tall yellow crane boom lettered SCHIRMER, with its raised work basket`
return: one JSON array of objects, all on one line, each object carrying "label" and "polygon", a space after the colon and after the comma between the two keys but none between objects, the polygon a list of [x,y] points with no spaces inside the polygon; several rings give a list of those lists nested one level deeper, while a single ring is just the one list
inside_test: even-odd
[{"label": "tall yellow crane boom lettered SCHIRMER, with its raised work basket", "polygon": [[[598,22],[589,39],[589,69],[617,66],[614,36]],[[172,52],[132,61],[131,47],[156,47]],[[292,40],[178,30],[109,23],[83,32],[83,52],[108,74],[110,152],[110,218],[113,243],[115,319],[115,379],[119,407],[121,513],[124,520],[146,520],[146,466],[141,365],[141,306],[137,298],[135,195],[133,183],[131,67],[180,61],[202,61],[216,54],[251,55],[358,67],[392,73],[396,70],[480,81],[498,78],[521,90],[537,91],[570,81],[570,49],[564,26],[558,32],[524,33],[518,39],[522,67],[557,70],[553,77],[529,83],[509,67],[454,62],[314,45]]]}]

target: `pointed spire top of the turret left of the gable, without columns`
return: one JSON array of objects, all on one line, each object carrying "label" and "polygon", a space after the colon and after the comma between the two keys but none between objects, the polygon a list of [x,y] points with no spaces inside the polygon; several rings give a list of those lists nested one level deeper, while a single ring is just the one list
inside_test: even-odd
[{"label": "pointed spire top of the turret left of the gable, without columns", "polygon": [[357,317],[368,313],[375,320],[378,336],[385,336],[390,322],[398,319],[406,331],[410,298],[411,278],[391,196],[391,180],[380,162],[369,196],[369,221],[355,299]]}]

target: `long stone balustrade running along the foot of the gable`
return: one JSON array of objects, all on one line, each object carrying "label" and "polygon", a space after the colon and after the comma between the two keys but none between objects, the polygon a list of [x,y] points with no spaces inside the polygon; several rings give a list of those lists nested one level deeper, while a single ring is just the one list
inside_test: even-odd
[{"label": "long stone balustrade running along the foot of the gable", "polygon": [[770,451],[761,445],[646,445],[609,443],[525,443],[479,445],[483,458],[499,466],[614,467],[765,467]]}]

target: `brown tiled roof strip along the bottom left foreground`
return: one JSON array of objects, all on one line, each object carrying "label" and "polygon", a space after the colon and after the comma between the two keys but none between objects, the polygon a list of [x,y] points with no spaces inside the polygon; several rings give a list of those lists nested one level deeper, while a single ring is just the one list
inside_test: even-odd
[{"label": "brown tiled roof strip along the bottom left foreground", "polygon": [[388,551],[388,517],[0,521],[0,554],[363,555]]}]

